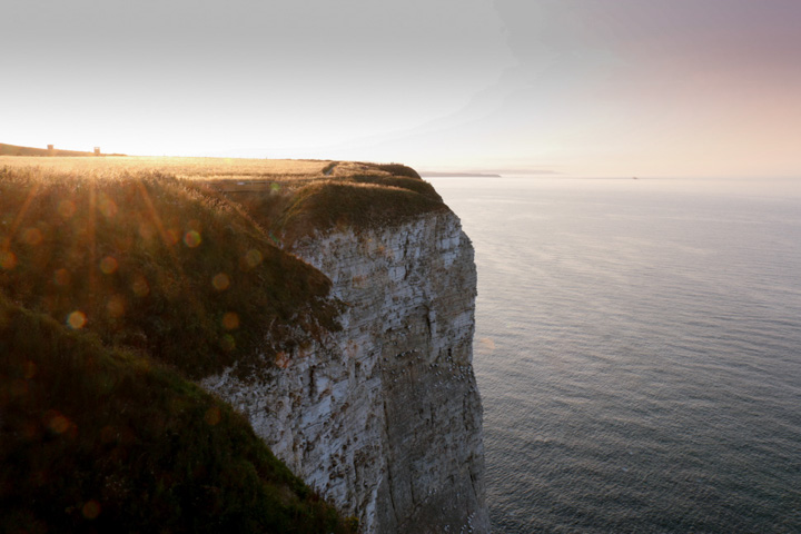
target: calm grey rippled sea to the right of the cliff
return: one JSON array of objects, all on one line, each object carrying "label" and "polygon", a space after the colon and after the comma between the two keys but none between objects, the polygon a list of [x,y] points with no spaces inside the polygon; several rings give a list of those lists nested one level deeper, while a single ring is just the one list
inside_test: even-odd
[{"label": "calm grey rippled sea to the right of the cliff", "polygon": [[801,186],[438,178],[494,532],[801,533]]}]

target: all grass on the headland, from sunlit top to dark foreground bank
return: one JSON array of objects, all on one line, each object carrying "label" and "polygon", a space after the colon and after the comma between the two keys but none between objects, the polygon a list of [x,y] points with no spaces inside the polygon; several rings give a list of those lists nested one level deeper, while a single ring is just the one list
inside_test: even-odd
[{"label": "all grass on the headland, from sunlit top to dark foreground bank", "polygon": [[[345,532],[187,378],[338,327],[329,280],[276,235],[447,209],[433,188],[403,166],[22,159],[0,159],[3,527]],[[268,187],[224,197],[220,177]]]}]

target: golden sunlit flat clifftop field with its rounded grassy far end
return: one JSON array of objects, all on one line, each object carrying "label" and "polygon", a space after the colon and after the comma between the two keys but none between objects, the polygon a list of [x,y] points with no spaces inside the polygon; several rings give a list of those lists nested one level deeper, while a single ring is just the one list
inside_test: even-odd
[{"label": "golden sunlit flat clifftop field with its rounded grassy far end", "polygon": [[251,224],[285,246],[314,231],[392,226],[447,210],[431,184],[399,164],[359,161],[0,156],[0,169],[44,181],[159,176],[210,196],[222,194]]}]

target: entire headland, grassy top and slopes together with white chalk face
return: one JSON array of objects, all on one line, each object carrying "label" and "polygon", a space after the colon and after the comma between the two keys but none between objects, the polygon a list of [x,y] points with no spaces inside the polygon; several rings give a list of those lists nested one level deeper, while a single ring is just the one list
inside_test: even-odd
[{"label": "entire headland, grassy top and slopes together with white chalk face", "polygon": [[475,293],[400,165],[0,156],[0,530],[486,532]]}]

